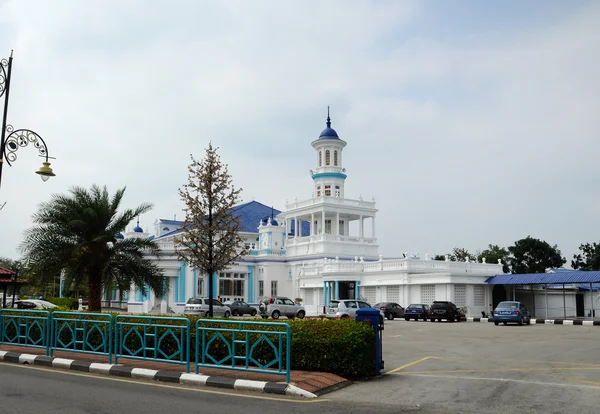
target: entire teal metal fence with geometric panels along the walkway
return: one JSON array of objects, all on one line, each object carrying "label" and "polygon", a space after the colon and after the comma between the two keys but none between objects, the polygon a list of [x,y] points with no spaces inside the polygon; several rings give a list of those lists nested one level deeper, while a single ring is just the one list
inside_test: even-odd
[{"label": "entire teal metal fence with geometric panels along the walkway", "polygon": [[[195,352],[190,352],[195,335]],[[290,382],[287,323],[0,309],[0,344],[284,375]]]}]

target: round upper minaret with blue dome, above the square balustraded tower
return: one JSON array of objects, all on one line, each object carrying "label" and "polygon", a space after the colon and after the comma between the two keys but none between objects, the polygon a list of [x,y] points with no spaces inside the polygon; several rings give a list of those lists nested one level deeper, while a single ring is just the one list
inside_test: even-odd
[{"label": "round upper minaret with blue dome, above the square balustraded tower", "polygon": [[315,149],[317,166],[315,171],[311,170],[314,196],[344,198],[346,169],[342,167],[342,151],[346,141],[341,140],[335,129],[331,128],[329,107],[327,107],[327,128],[321,132],[319,139],[313,141],[312,146]]}]

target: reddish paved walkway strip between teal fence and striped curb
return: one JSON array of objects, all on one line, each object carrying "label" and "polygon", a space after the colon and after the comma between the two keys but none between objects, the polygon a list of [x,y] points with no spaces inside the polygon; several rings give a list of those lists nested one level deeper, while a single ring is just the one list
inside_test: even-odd
[{"label": "reddish paved walkway strip between teal fence and striped curb", "polygon": [[[0,344],[0,350],[10,352],[20,352],[33,355],[45,355],[45,349],[32,348],[26,346],[14,346],[7,344]],[[101,362],[107,363],[108,358],[100,355],[90,355],[79,352],[66,352],[66,351],[54,351],[54,356],[58,358],[74,359],[77,361],[86,362]],[[113,361],[114,362],[114,361]],[[135,367],[135,368],[147,368],[161,371],[173,371],[173,372],[185,372],[184,365],[166,363],[166,362],[155,362],[152,360],[137,360],[128,358],[119,358],[119,365]],[[193,373],[193,366],[190,368]],[[245,379],[254,381],[269,381],[269,382],[285,382],[285,376],[276,374],[262,374],[245,371],[233,371],[227,369],[217,368],[200,368],[200,374],[208,376],[218,376],[225,378]],[[290,384],[295,385],[298,388],[302,388],[305,391],[321,395],[326,393],[332,388],[349,384],[350,381],[346,380],[335,374],[329,374],[326,372],[311,372],[311,371],[297,371],[293,370],[290,375]]]}]

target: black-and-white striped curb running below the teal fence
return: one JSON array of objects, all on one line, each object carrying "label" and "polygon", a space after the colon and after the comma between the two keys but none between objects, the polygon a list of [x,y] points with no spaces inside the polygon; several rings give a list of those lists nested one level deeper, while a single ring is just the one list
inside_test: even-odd
[{"label": "black-and-white striped curb running below the teal fence", "polygon": [[90,372],[124,378],[137,378],[186,385],[229,388],[240,391],[256,391],[293,397],[317,397],[311,392],[287,383],[214,377],[200,374],[188,374],[185,372],[157,371],[153,369],[133,368],[115,364],[76,361],[73,359],[55,358],[45,355],[31,355],[21,354],[18,352],[0,351],[0,361],[14,364],[31,364],[43,367],[69,369],[79,372]]}]

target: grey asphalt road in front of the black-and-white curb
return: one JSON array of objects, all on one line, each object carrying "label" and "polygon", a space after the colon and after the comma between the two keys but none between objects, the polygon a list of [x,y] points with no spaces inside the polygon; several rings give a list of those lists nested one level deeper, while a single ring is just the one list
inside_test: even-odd
[{"label": "grey asphalt road in front of the black-and-white curb", "polygon": [[0,363],[0,413],[398,413],[396,407],[220,391]]}]

